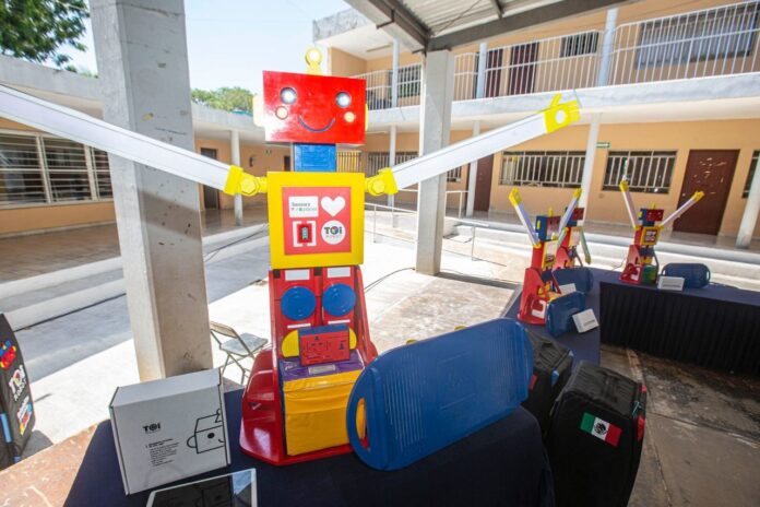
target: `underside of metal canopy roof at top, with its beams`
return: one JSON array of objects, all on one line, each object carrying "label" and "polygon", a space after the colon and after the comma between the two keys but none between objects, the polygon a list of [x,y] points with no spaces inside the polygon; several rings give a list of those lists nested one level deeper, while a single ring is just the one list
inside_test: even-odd
[{"label": "underside of metal canopy roof at top, with its beams", "polygon": [[412,51],[452,49],[625,0],[346,0]]}]

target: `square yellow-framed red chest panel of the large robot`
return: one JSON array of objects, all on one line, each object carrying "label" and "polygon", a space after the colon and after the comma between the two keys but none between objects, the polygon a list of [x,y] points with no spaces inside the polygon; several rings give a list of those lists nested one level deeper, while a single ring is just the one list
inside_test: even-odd
[{"label": "square yellow-framed red chest panel of the large robot", "polygon": [[[266,184],[270,256],[273,269],[357,266],[364,261],[365,175],[363,173],[268,173]],[[347,207],[345,211],[343,209],[336,211],[336,208],[322,204],[322,197],[335,196],[336,192],[340,197],[335,198],[335,201],[339,199],[342,199],[342,202],[349,201],[345,202]],[[290,194],[311,199],[311,202],[319,204],[318,211],[300,210],[298,219],[294,220],[292,211],[284,205]],[[313,201],[313,198],[317,200]],[[333,202],[332,197],[330,199]],[[286,216],[286,213],[290,214],[290,219]],[[333,216],[330,213],[337,214]],[[326,222],[334,223],[336,220],[346,227],[346,239],[344,239],[346,244],[328,244],[323,239],[320,224],[326,225]],[[317,245],[294,248],[292,245],[294,239],[289,236],[295,235],[293,226],[296,222],[309,221],[316,223],[317,229],[313,234]],[[289,245],[286,245],[286,240]],[[341,251],[324,252],[320,249],[340,249]]]}]

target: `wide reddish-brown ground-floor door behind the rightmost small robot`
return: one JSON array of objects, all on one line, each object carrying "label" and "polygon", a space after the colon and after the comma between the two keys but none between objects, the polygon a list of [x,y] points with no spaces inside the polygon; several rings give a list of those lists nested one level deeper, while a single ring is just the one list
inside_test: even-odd
[{"label": "wide reddish-brown ground-floor door behind the rightmost small robot", "polygon": [[698,190],[703,191],[704,197],[673,224],[674,231],[717,234],[728,201],[728,191],[738,156],[738,150],[691,150],[689,152],[678,205],[686,202]]}]

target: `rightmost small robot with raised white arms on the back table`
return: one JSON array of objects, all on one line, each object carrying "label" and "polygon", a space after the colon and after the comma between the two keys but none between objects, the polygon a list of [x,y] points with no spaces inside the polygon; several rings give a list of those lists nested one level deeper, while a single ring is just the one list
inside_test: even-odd
[{"label": "rightmost small robot with raised white arms on the back table", "polygon": [[[697,204],[704,197],[704,192],[694,192],[688,201],[665,220],[663,220],[665,211],[655,208],[654,204],[650,208],[641,208],[637,220],[628,180],[622,178],[619,187],[620,192],[622,192],[622,200],[626,203],[626,211],[628,211],[628,216],[634,231],[633,243],[628,247],[628,257],[626,258],[620,280],[636,285],[654,285],[657,283],[660,273],[660,261],[657,260],[657,254],[654,251],[654,246],[660,239],[660,232],[686,213],[689,208]],[[657,222],[661,223],[657,224]]]}]

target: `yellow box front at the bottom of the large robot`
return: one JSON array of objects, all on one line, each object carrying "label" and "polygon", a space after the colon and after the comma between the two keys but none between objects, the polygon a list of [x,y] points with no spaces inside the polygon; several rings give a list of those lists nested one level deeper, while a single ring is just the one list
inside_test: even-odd
[{"label": "yellow box front at the bottom of the large robot", "polygon": [[[360,370],[302,378],[283,384],[285,441],[289,456],[348,443],[346,403]],[[357,427],[364,437],[364,412]]]}]

